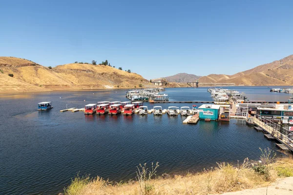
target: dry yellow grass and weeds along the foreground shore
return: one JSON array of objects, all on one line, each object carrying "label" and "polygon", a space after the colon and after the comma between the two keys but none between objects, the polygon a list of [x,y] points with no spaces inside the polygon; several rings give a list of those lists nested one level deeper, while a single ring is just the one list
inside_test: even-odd
[{"label": "dry yellow grass and weeds along the foreground shore", "polygon": [[136,181],[112,184],[101,177],[77,176],[64,189],[65,195],[207,195],[267,186],[278,177],[293,176],[293,158],[277,158],[270,149],[262,151],[261,162],[218,167],[186,176],[156,177],[157,164],[138,166]]}]

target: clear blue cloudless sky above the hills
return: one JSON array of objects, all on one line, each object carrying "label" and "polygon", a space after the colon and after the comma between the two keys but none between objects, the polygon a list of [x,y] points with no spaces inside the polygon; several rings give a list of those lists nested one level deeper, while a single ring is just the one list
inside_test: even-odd
[{"label": "clear blue cloudless sky above the hills", "polygon": [[235,74],[293,54],[293,0],[2,0],[0,56],[143,77]]}]

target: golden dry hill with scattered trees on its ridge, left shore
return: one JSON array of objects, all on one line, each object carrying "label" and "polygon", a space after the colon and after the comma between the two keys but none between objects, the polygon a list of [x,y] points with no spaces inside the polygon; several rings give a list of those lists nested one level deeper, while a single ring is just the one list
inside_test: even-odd
[{"label": "golden dry hill with scattered trees on its ridge, left shore", "polygon": [[[0,70],[0,92],[153,86],[141,75],[105,65],[71,63],[49,69],[25,59],[0,57]],[[13,78],[8,74],[13,74]]]}]

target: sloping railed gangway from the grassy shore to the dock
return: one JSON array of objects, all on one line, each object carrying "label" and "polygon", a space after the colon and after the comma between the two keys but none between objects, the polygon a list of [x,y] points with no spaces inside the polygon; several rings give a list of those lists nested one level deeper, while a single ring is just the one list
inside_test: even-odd
[{"label": "sloping railed gangway from the grassy shore to the dock", "polygon": [[[266,135],[271,135],[270,139],[274,138],[281,142],[281,144],[276,144],[279,148],[283,149],[284,147],[279,146],[283,145],[293,152],[293,140],[288,137],[288,129],[261,116],[253,117],[253,123],[261,127]],[[266,137],[269,138],[269,136]]]}]

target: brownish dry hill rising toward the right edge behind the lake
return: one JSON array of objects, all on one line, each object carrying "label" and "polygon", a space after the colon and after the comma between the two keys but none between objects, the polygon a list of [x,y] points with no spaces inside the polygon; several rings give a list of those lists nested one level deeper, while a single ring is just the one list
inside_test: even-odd
[{"label": "brownish dry hill rising toward the right edge behind the lake", "polygon": [[293,55],[234,75],[208,75],[202,83],[235,83],[236,85],[293,85]]}]

